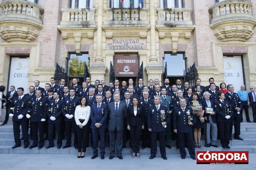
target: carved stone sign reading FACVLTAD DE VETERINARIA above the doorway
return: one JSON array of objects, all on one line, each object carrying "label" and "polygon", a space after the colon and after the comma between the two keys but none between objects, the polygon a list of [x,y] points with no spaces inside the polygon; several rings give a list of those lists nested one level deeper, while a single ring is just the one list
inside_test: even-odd
[{"label": "carved stone sign reading FACVLTAD DE VETERINARIA above the doorway", "polygon": [[107,50],[146,50],[146,41],[141,39],[107,40]]}]

